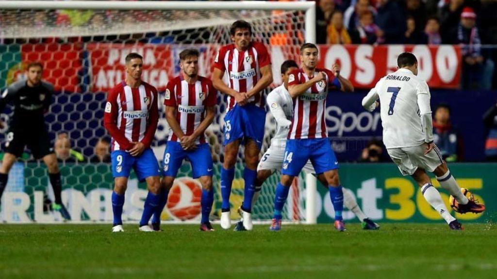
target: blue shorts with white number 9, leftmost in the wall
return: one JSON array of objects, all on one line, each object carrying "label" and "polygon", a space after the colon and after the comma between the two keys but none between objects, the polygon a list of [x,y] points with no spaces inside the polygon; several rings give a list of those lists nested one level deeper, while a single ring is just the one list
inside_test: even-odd
[{"label": "blue shorts with white number 9, leftmost in the wall", "polygon": [[110,158],[112,159],[112,175],[114,177],[129,177],[131,169],[135,170],[140,181],[147,177],[161,175],[159,163],[151,148],[145,149],[139,157],[133,157],[124,150],[114,150],[110,154]]}]

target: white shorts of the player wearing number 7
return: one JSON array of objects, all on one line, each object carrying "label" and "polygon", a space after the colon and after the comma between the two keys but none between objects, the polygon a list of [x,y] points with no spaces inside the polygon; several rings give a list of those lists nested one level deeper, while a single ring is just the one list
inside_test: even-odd
[{"label": "white shorts of the player wearing number 7", "polygon": [[436,145],[426,155],[424,155],[425,151],[426,144],[387,149],[390,158],[397,164],[404,176],[414,174],[418,167],[433,172],[439,165],[443,164],[442,155]]}]

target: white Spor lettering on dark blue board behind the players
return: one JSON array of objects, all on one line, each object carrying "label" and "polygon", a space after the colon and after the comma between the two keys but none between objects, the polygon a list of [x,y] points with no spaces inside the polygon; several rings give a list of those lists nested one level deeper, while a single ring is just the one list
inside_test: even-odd
[{"label": "white Spor lettering on dark blue board behind the players", "polygon": [[336,133],[338,137],[343,136],[343,133],[359,132],[372,135],[381,132],[379,112],[344,112],[337,106],[329,106],[326,108],[325,116],[328,133]]}]

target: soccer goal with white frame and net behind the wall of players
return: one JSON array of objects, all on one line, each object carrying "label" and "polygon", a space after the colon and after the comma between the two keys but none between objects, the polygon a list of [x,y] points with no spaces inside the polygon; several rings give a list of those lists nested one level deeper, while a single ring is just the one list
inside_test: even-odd
[{"label": "soccer goal with white frame and net behind the wall of players", "polygon": [[[53,140],[67,133],[72,149],[82,153],[76,162],[61,162],[63,200],[73,220],[109,221],[112,218],[109,164],[93,162],[94,146],[106,137],[102,119],[106,92],[124,79],[124,58],[130,52],[144,57],[143,79],[162,92],[159,129],[154,151],[159,159],[168,135],[162,101],[167,81],[179,74],[178,54],[185,48],[200,51],[200,74],[210,76],[217,50],[231,43],[229,27],[244,19],[252,24],[253,40],[263,42],[272,60],[274,85],[281,83],[280,65],[298,61],[299,47],[315,42],[315,3],[278,1],[0,1],[0,87],[21,78],[28,62],[44,65],[44,79],[53,83],[57,94],[46,115]],[[212,214],[220,212],[220,166],[223,160],[221,133],[226,98],[218,96],[218,111],[207,134],[215,162],[216,198]],[[11,108],[3,111],[7,123]],[[275,132],[271,115],[261,152]],[[0,141],[8,127],[0,133]],[[2,145],[3,147],[3,145]],[[3,149],[2,149],[3,150]],[[243,149],[241,150],[243,154]],[[262,153],[261,153],[262,154]],[[29,158],[29,154],[26,155]],[[243,200],[243,160],[239,160],[233,194],[232,218]],[[189,178],[189,164],[183,165],[169,194],[163,219],[196,220],[200,213],[199,183]],[[263,185],[253,209],[255,220],[272,216],[278,173]],[[43,163],[26,160],[11,171],[2,197],[0,219],[6,221],[52,221],[58,216],[44,211],[45,189],[50,187]],[[296,179],[285,208],[285,219],[315,223],[316,180]],[[138,220],[146,196],[144,185],[130,179],[123,218]],[[44,201],[45,200],[45,201]],[[46,209],[46,208],[45,208]]]}]

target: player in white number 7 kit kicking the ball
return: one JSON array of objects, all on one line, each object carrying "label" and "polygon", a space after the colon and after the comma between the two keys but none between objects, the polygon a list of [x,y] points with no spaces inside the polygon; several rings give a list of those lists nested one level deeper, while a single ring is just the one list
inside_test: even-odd
[{"label": "player in white number 7 kit kicking the ball", "polygon": [[454,196],[459,213],[481,213],[484,205],[468,200],[433,143],[430,91],[426,81],[417,77],[417,59],[405,52],[397,59],[399,70],[382,77],[362,100],[362,106],[374,111],[379,105],[383,124],[383,143],[404,176],[411,175],[426,201],[449,224],[463,229],[445,207],[440,193],[431,184],[426,171],[433,172],[440,186]]}]

